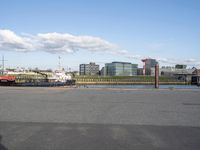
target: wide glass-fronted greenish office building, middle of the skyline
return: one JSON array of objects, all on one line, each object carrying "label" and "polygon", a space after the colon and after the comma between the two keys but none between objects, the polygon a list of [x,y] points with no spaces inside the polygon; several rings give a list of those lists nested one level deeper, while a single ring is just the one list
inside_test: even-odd
[{"label": "wide glass-fronted greenish office building, middle of the skyline", "polygon": [[112,62],[105,64],[104,75],[106,76],[134,76],[137,75],[137,64],[129,62]]}]

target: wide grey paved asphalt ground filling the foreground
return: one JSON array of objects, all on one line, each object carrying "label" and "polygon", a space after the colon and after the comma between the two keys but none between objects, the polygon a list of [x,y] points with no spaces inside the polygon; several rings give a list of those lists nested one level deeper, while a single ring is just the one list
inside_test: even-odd
[{"label": "wide grey paved asphalt ground filling the foreground", "polygon": [[9,150],[200,149],[200,91],[0,87]]}]

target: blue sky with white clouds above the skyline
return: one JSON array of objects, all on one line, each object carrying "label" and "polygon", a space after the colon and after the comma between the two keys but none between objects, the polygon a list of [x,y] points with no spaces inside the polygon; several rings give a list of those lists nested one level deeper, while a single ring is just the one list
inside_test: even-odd
[{"label": "blue sky with white clouds above the skyline", "polygon": [[0,0],[5,67],[96,62],[200,68],[199,0]]}]

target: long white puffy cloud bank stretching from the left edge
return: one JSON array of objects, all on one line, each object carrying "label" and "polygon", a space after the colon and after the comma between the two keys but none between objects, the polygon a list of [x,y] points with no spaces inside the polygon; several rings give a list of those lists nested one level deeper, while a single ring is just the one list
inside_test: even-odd
[{"label": "long white puffy cloud bank stretching from the left edge", "polygon": [[49,53],[73,53],[78,50],[91,52],[124,53],[118,46],[93,36],[75,36],[67,33],[23,34],[0,30],[0,50],[45,51]]}]

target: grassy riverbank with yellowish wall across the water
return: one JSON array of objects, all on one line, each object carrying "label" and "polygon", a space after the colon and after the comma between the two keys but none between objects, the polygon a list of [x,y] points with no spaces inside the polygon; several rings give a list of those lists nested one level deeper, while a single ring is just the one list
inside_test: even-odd
[{"label": "grassy riverbank with yellowish wall across the water", "polygon": [[[154,85],[153,76],[76,76],[77,85]],[[178,80],[175,77],[159,77],[161,85],[190,85],[190,81]]]}]

